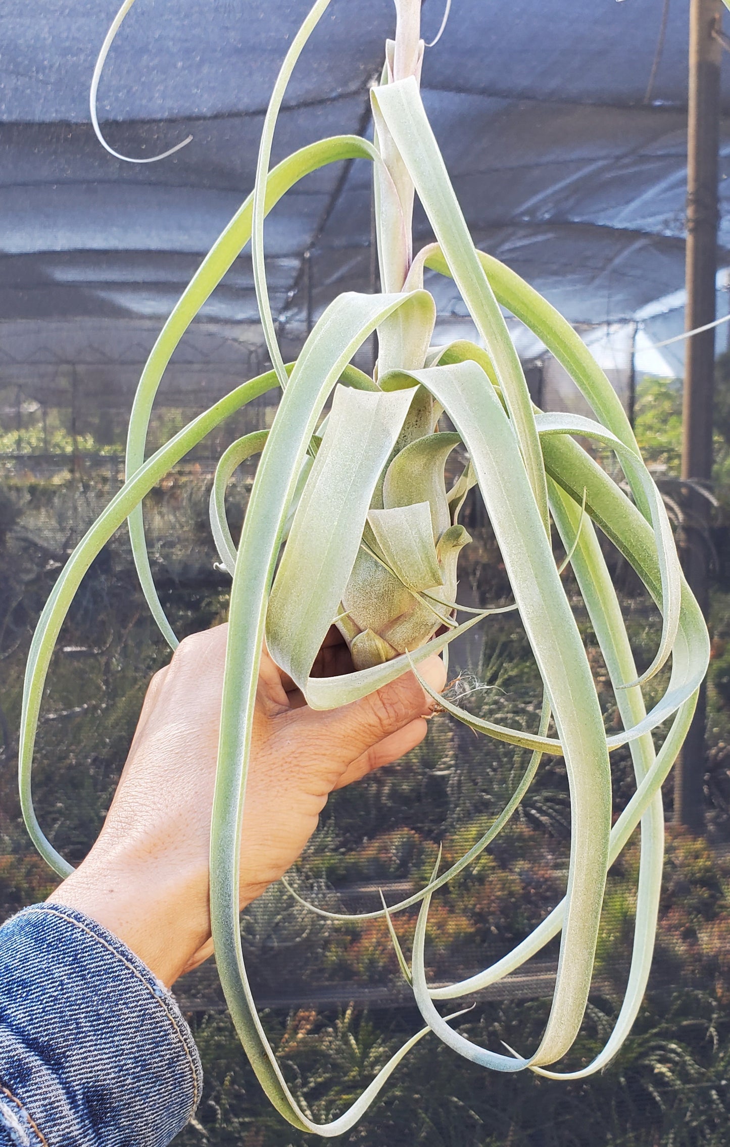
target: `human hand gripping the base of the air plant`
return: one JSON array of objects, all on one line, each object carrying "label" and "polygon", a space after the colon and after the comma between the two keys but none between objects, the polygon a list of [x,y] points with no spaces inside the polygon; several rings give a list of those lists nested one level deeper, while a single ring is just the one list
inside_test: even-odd
[{"label": "human hand gripping the base of the air plant", "polygon": [[[153,677],[99,840],[49,897],[118,936],[168,985],[212,953],[209,837],[227,625],[180,642]],[[313,672],[351,669],[331,631]],[[435,689],[438,657],[420,666]],[[264,651],[241,842],[241,907],[294,864],[328,795],[426,735],[433,701],[412,673],[341,709],[309,709]]]}]

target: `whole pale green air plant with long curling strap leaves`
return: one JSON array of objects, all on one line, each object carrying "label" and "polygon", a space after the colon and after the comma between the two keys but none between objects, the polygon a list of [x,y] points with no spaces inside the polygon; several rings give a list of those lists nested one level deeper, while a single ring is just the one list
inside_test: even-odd
[{"label": "whole pale green air plant with long curling strap leaves", "polygon": [[[106,55],[133,0],[119,10]],[[220,561],[232,576],[220,743],[211,830],[211,916],[220,978],[254,1069],[278,1110],[295,1126],[340,1134],[366,1110],[388,1076],[428,1031],[468,1060],[498,1071],[526,1068],[552,1078],[548,1066],[572,1046],[585,1011],[608,867],[640,826],[636,931],[626,998],[613,1032],[578,1078],[616,1054],[640,1006],[652,958],[663,850],[660,786],[682,746],[708,663],[708,638],[682,576],[661,497],[642,461],[626,413],[606,376],[568,322],[513,271],[479,251],[449,181],[419,93],[424,56],[420,0],[396,0],[394,41],[372,89],[373,142],[342,135],[296,151],[269,170],[286,86],[329,0],[317,0],[292,41],[264,120],[251,195],[205,257],[164,325],[143,369],[130,419],[126,481],[76,547],[44,609],[28,663],[20,783],[29,832],[61,875],[70,866],[44,836],[31,798],[31,760],[44,682],[63,618],[90,564],[126,520],[142,590],[160,629],[177,641],[160,603],[145,544],[141,501],[160,478],[213,427],[274,388],[281,397],[270,430],[247,435],[220,459],[210,517]],[[102,140],[103,141],[103,140]],[[104,145],[106,146],[106,145]],[[181,145],[180,145],[181,146]],[[165,153],[169,154],[169,153]],[[285,365],[266,292],[264,219],[300,179],[328,163],[372,163],[382,291],[345,294],[317,321],[294,364]],[[418,195],[435,235],[412,251]],[[150,409],[172,352],[234,259],[251,242],[261,320],[273,369],[246,382],[194,419],[150,458],[145,444]],[[426,270],[453,279],[480,343],[434,345],[436,307],[424,289]],[[530,400],[503,311],[517,315],[575,381],[595,418],[543,413]],[[352,365],[376,331],[373,376]],[[332,399],[329,413],[323,419]],[[440,429],[448,415],[453,430]],[[630,496],[592,459],[581,440],[612,450]],[[446,487],[444,465],[460,445],[468,458]],[[236,467],[261,454],[238,547],[225,513],[225,489]],[[317,709],[345,704],[391,681],[482,621],[490,610],[456,601],[457,563],[469,538],[459,512],[477,485],[499,545],[514,607],[544,684],[539,727],[533,733],[442,707],[490,738],[533,750],[529,766],[489,830],[457,864],[409,899],[379,913],[390,927],[402,968],[426,1027],[414,1035],[339,1118],[314,1124],[287,1087],[256,1012],[239,928],[240,833],[246,799],[251,713],[264,639]],[[583,641],[557,568],[557,529],[600,646],[623,731],[608,736]],[[655,657],[637,674],[619,600],[597,529],[634,567],[661,615]],[[565,564],[565,563],[564,563]],[[466,615],[459,621],[459,614]],[[347,640],[354,671],[312,678],[332,624]],[[646,711],[642,686],[671,658],[661,699]],[[424,682],[425,684],[425,682]],[[554,735],[551,732],[554,721]],[[657,734],[669,718],[668,732]],[[612,826],[611,752],[630,747],[636,791]],[[433,895],[468,865],[504,827],[523,797],[542,755],[565,759],[572,843],[565,899],[506,957],[479,975],[429,988],[426,922]],[[397,947],[394,912],[420,903],[409,967]],[[321,911],[313,908],[313,911]],[[469,1041],[436,1002],[499,981],[561,934],[552,1007],[539,1046],[505,1054]]]}]

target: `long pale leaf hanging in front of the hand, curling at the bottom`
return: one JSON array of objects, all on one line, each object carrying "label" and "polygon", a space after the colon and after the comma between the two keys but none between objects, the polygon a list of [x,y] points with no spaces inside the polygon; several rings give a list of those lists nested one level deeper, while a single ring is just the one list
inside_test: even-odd
[{"label": "long pale leaf hanging in front of the hand, curling at the bottom", "polygon": [[[228,622],[218,768],[210,843],[211,924],[220,982],[249,1060],[277,1109],[294,1126],[341,1134],[372,1102],[385,1071],[337,1119],[313,1123],[297,1106],[273,1054],[248,984],[239,928],[239,864],[248,754],[267,598],[296,476],[321,408],[367,336],[397,307],[422,321],[433,301],[425,291],[397,296],[343,295],[329,305],[292,373],[264,447],[239,545]],[[402,1048],[399,1055],[405,1054]]]}]

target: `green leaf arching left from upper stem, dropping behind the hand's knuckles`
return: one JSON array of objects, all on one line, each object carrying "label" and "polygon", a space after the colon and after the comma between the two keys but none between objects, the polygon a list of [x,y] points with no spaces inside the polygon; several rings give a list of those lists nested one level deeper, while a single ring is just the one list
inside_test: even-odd
[{"label": "green leaf arching left from upper stem, dropping behind the hand's knuckles", "polygon": [[[295,151],[294,155],[282,159],[270,173],[266,180],[265,211],[271,211],[281,196],[290,187],[294,187],[300,179],[303,179],[304,175],[317,171],[326,164],[336,163],[339,159],[357,158],[378,159],[372,143],[359,139],[357,135],[336,135],[332,139],[318,141],[317,143],[310,143],[300,151]],[[253,209],[254,193],[251,192],[233,216],[231,223],[218,236],[182,291],[180,299],[176,304],[149,353],[137,388],[137,393],[134,395],[134,403],[130,415],[125,460],[127,478],[139,469],[145,460],[145,443],[147,440],[149,416],[157,388],[172,353],[203,303],[210,297],[250,240]],[[174,649],[178,639],[172,632],[157,596],[157,591],[155,590],[145,540],[145,520],[141,506],[134,507],[130,514],[130,540],[137,574],[142,593],[147,599],[147,604],[163,637],[171,648]]]}]

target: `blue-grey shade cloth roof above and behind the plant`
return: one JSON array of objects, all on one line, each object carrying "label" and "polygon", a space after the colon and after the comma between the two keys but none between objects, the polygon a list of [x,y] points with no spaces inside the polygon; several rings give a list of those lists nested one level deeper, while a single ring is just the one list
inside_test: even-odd
[{"label": "blue-grey shade cloth roof above and behind the plant", "polygon": [[[93,64],[116,8],[117,0],[5,5],[6,320],[169,312],[251,189],[263,112],[309,0],[138,0],[102,77],[107,136],[148,157],[193,135],[177,155],[142,165],[110,156],[90,124]],[[686,9],[676,0],[453,0],[426,53],[425,104],[474,239],[573,322],[630,319],[667,296],[681,305]],[[425,0],[426,36],[442,11],[443,0]],[[367,134],[368,86],[394,19],[393,0],[333,0],[292,81],[275,157],[327,134]],[[729,172],[725,118],[721,188]],[[730,193],[722,212],[725,264]],[[417,234],[429,237],[418,213]],[[363,161],[325,169],[286,197],[266,229],[285,329],[301,326],[306,310],[305,252],[316,314],[342,289],[370,289],[370,241]],[[438,303],[455,320],[464,313],[445,281]],[[255,322],[246,257],[204,317]]]}]

